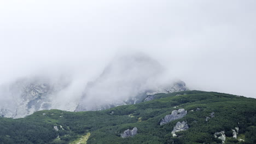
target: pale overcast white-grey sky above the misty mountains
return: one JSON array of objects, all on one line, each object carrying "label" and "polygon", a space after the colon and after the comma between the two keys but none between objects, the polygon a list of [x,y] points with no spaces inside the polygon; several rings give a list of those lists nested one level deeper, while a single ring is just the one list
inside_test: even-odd
[{"label": "pale overcast white-grey sky above the misty mountains", "polygon": [[254,97],[256,1],[0,0],[0,83],[94,79],[119,53],[146,53],[190,89]]}]

